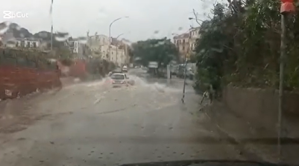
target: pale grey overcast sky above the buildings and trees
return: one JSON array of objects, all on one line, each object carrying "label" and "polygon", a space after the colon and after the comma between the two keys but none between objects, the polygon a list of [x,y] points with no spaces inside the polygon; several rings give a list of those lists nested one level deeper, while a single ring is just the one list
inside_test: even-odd
[{"label": "pale grey overcast sky above the buildings and trees", "polygon": [[[31,33],[50,31],[51,0],[0,0],[0,22],[11,21],[27,28]],[[69,32],[71,36],[109,34],[113,37],[125,33],[123,38],[131,41],[156,37],[171,37],[172,33],[183,33],[190,25],[197,26],[192,9],[205,19],[210,13],[211,0],[53,0],[54,31]],[[2,11],[27,13],[28,17],[3,18]],[[154,31],[158,30],[157,34]]]}]

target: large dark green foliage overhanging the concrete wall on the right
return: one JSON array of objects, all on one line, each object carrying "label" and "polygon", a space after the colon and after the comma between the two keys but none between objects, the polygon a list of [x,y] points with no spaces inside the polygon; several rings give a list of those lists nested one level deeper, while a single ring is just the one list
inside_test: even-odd
[{"label": "large dark green foliage overhanging the concrete wall on the right", "polygon": [[[281,15],[279,0],[231,0],[216,4],[213,17],[201,24],[196,43],[194,88],[207,85],[278,88]],[[299,15],[287,21],[286,88],[299,87]]]}]

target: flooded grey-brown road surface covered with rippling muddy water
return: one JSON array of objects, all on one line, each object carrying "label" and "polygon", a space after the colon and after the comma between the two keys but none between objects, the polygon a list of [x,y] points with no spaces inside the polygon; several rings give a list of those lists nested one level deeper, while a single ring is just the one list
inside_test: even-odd
[{"label": "flooded grey-brown road surface covered with rippling muddy water", "polygon": [[35,98],[27,109],[42,118],[0,135],[0,166],[247,160],[222,141],[204,114],[198,115],[200,99],[190,86],[183,105],[181,80],[166,86],[130,78],[135,86],[111,88],[95,81]]}]

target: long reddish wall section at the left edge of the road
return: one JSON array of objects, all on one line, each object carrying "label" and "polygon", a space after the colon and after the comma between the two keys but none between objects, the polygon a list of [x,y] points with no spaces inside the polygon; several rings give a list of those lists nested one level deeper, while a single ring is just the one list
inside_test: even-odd
[{"label": "long reddish wall section at the left edge of the road", "polygon": [[16,98],[36,91],[60,87],[58,70],[0,66],[0,99]]}]

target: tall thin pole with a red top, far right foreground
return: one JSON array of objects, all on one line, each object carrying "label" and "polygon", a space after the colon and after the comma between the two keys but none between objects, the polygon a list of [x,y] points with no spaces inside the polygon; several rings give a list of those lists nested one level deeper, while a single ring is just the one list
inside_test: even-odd
[{"label": "tall thin pole with a red top, far right foreground", "polygon": [[279,101],[278,101],[278,155],[281,158],[281,138],[282,138],[282,116],[284,106],[284,73],[286,61],[286,20],[287,16],[295,11],[294,0],[281,0],[281,55],[280,55],[280,75],[279,75]]}]

